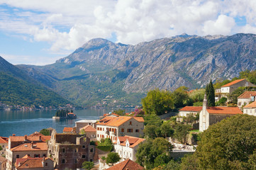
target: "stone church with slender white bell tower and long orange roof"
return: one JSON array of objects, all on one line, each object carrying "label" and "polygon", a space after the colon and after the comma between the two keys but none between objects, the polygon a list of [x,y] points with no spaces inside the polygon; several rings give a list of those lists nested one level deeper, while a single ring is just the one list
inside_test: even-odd
[{"label": "stone church with slender white bell tower and long orange roof", "polygon": [[203,107],[199,113],[199,131],[203,132],[209,125],[236,114],[243,114],[243,112],[238,107],[208,107],[205,94]]}]

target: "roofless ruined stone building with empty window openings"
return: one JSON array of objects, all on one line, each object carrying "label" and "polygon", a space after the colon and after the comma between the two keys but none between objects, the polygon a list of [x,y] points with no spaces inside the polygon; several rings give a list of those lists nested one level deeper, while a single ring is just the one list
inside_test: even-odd
[{"label": "roofless ruined stone building with empty window openings", "polygon": [[55,169],[78,169],[85,161],[94,161],[95,146],[89,137],[52,131],[48,141],[48,157],[54,160]]}]

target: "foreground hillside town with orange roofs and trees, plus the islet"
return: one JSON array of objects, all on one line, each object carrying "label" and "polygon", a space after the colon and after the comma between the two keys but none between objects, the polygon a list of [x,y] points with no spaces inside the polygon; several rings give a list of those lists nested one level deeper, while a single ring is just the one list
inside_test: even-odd
[{"label": "foreground hillside town with orange roofs and trees, plus the islet", "polygon": [[[206,89],[154,89],[134,111],[118,108],[60,133],[0,137],[1,169],[254,169],[256,77],[243,73]],[[52,118],[77,115],[67,105]]]}]

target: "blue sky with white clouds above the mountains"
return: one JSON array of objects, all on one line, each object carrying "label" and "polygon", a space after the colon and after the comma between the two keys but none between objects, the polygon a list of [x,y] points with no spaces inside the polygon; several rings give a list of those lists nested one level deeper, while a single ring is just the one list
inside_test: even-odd
[{"label": "blue sky with white clouds above the mountains", "polygon": [[0,0],[0,56],[11,64],[52,64],[92,38],[136,45],[182,33],[256,33],[255,0]]}]

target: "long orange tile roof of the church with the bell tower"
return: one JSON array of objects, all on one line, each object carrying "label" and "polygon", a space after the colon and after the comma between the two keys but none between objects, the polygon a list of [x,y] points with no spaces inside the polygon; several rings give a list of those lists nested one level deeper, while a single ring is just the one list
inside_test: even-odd
[{"label": "long orange tile roof of the church with the bell tower", "polygon": [[210,114],[228,114],[228,115],[243,114],[243,112],[240,111],[238,107],[208,107],[207,111]]}]

